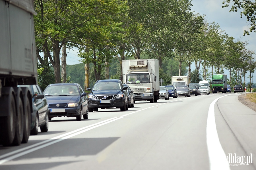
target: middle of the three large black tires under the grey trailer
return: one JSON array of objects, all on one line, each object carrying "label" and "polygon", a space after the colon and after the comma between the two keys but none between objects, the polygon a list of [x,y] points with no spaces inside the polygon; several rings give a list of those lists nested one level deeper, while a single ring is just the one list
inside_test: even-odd
[{"label": "middle of the three large black tires under the grey trailer", "polygon": [[24,133],[24,101],[23,101],[23,95],[21,88],[14,88],[14,91],[16,93],[16,132],[15,132],[15,137],[13,140],[14,146],[18,146],[21,144],[22,138],[23,138],[23,133]]}]

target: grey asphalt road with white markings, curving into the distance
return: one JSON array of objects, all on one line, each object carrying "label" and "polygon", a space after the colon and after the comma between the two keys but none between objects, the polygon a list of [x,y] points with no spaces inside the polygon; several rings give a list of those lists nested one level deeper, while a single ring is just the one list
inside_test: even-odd
[{"label": "grey asphalt road with white markings, curving into the distance", "polygon": [[256,112],[239,95],[138,101],[82,121],[53,118],[27,144],[0,145],[0,169],[256,169]]}]

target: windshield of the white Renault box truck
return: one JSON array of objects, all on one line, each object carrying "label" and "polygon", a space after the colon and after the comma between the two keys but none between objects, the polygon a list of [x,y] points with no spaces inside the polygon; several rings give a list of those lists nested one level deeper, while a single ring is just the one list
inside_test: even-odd
[{"label": "windshield of the white Renault box truck", "polygon": [[148,73],[129,73],[126,76],[126,83],[150,83]]}]

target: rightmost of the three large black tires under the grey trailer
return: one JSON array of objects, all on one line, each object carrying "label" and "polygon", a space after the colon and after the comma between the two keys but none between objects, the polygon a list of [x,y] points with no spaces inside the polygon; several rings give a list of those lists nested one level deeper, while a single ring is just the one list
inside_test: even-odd
[{"label": "rightmost of the three large black tires under the grey trailer", "polygon": [[30,136],[30,126],[31,126],[31,95],[27,87],[22,87],[23,98],[24,98],[24,133],[22,143],[27,143]]}]

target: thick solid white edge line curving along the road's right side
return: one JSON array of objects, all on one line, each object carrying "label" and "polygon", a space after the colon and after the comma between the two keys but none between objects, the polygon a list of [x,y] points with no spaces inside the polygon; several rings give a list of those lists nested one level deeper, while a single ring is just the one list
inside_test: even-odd
[{"label": "thick solid white edge line curving along the road's right side", "polygon": [[[225,96],[228,96],[228,95],[225,95]],[[222,97],[224,96],[221,96],[213,100],[208,110],[206,140],[207,140],[210,170],[215,170],[215,169],[230,170],[228,160],[226,159],[226,154],[220,144],[220,140],[218,137],[216,122],[215,122],[215,114],[214,114],[214,104],[216,103],[217,100],[219,100]]]}]

